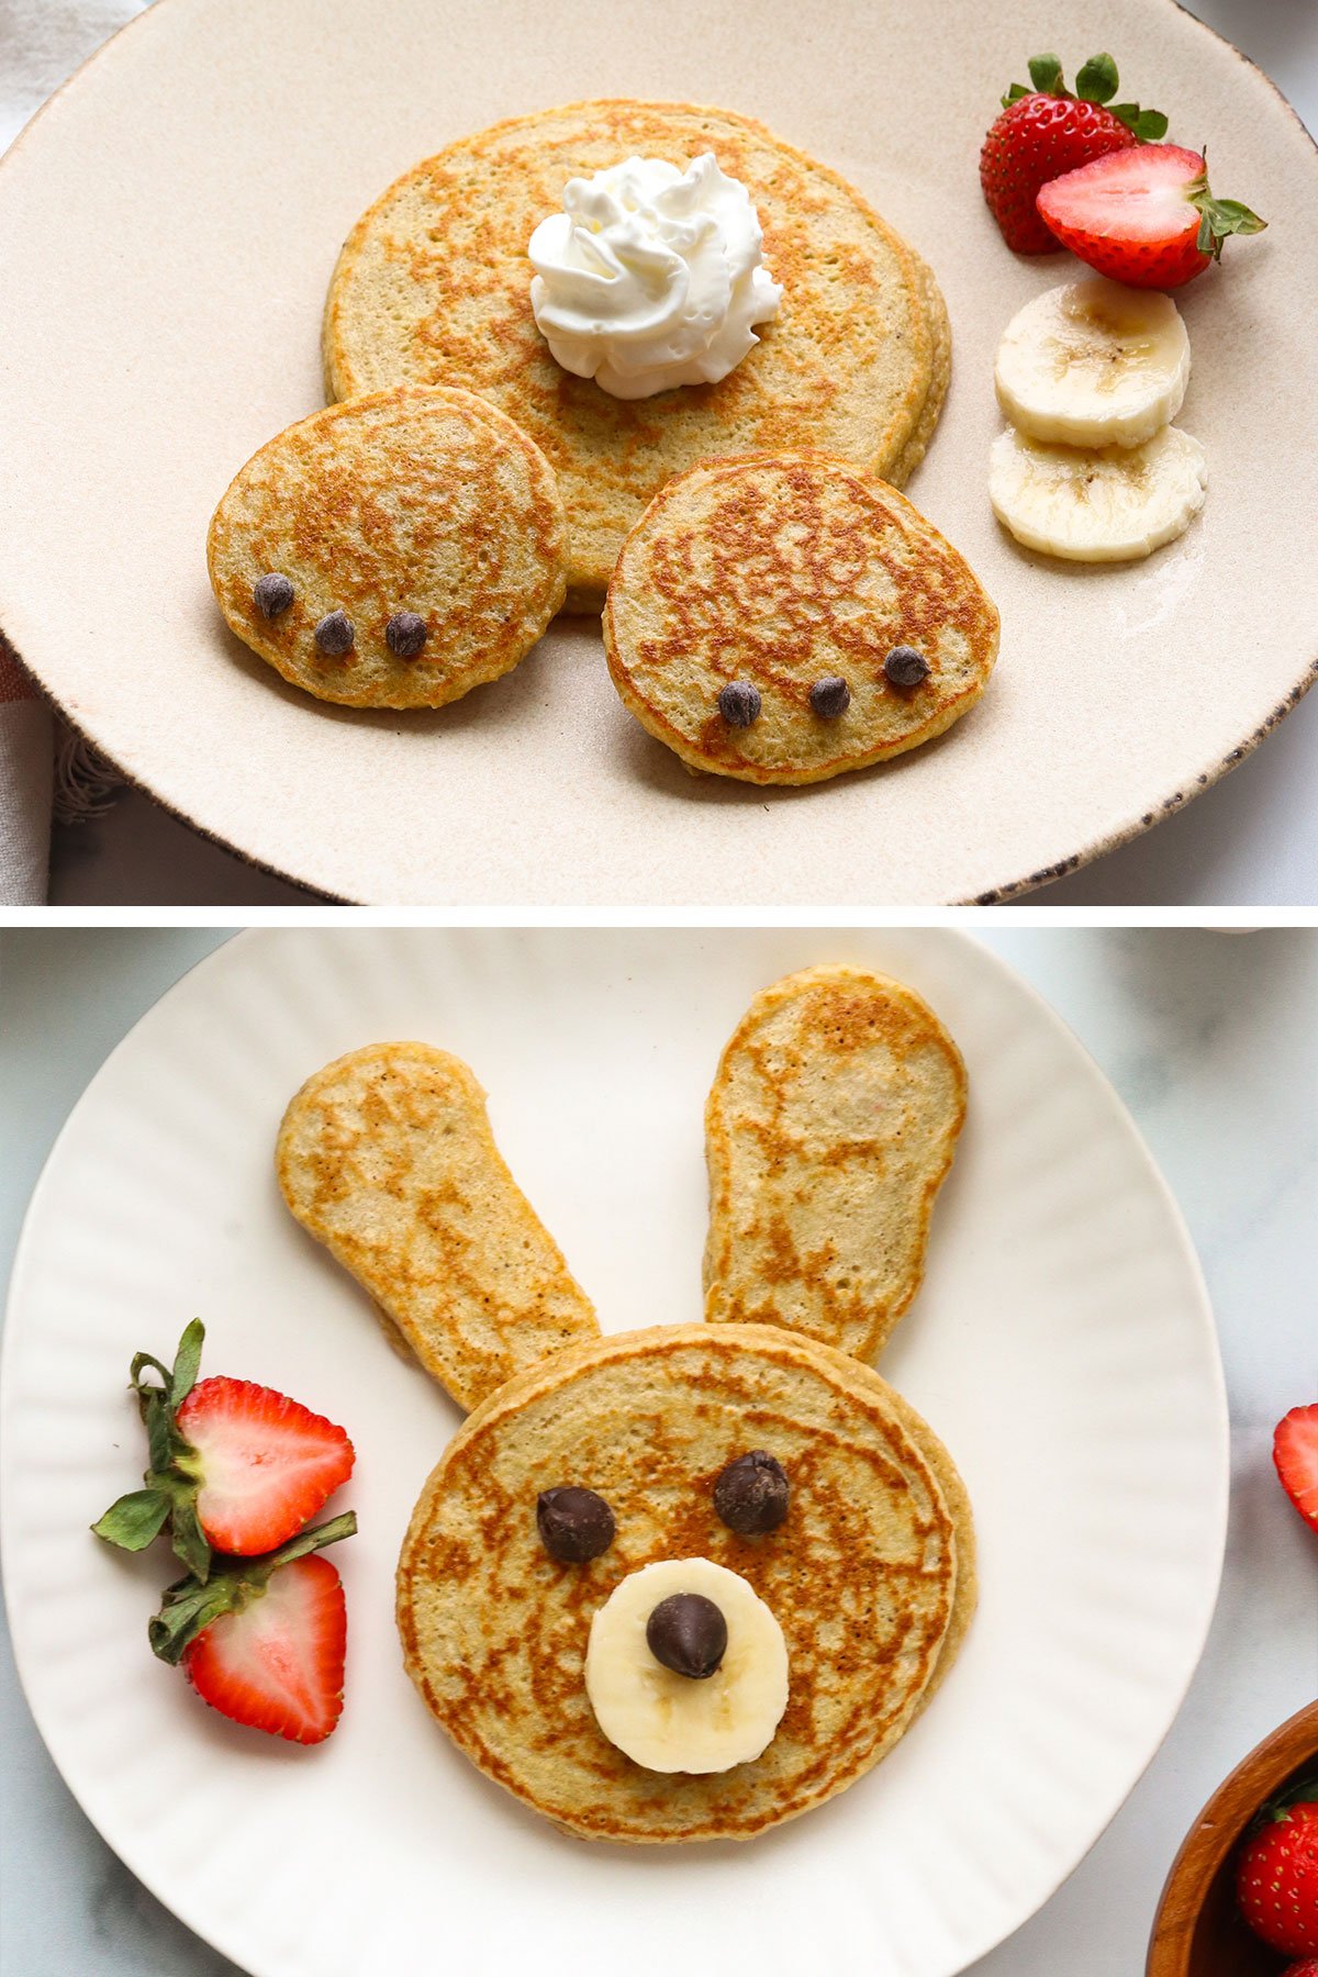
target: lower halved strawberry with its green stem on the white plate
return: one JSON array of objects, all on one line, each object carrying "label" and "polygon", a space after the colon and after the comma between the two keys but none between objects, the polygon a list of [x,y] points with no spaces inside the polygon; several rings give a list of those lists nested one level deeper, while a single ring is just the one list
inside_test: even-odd
[{"label": "lower halved strawberry with its green stem on the white plate", "polygon": [[344,1710],[348,1613],[326,1544],[358,1528],[352,1510],[304,1530],[271,1558],[233,1560],[182,1580],[150,1623],[154,1653],[211,1708],[292,1744],[320,1744]]}]

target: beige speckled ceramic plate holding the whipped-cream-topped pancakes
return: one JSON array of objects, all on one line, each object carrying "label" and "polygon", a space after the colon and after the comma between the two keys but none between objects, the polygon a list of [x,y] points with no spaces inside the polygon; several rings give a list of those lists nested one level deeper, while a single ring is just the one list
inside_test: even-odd
[{"label": "beige speckled ceramic plate holding the whipped-cream-topped pancakes", "polygon": [[[828,903],[1000,898],[1213,781],[1312,678],[1318,154],[1265,77],[1172,0],[1067,6],[1071,69],[1207,142],[1271,219],[1184,297],[1180,423],[1209,498],[1148,563],[1018,550],[986,498],[992,356],[1069,273],[980,202],[998,93],[1055,0],[158,0],[0,170],[0,625],[128,775],[249,858],[348,900]],[[622,712],[593,631],[435,714],[324,708],[221,625],[209,512],[320,403],[338,245],[413,160],[585,95],[725,103],[838,166],[933,263],[954,380],[909,494],[1002,607],[948,735],[806,791],[692,779]]]}]

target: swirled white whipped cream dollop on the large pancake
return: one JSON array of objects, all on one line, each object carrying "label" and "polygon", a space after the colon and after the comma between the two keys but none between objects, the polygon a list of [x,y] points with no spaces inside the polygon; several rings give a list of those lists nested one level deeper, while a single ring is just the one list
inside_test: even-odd
[{"label": "swirled white whipped cream dollop on the large pancake", "polygon": [[705,152],[686,172],[626,158],[571,178],[532,233],[532,308],[549,350],[615,397],[717,384],[783,289],[761,265],[751,194]]}]

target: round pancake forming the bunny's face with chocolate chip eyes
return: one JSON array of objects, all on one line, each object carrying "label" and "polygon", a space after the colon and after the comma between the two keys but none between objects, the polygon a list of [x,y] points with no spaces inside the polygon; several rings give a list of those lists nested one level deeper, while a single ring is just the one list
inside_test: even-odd
[{"label": "round pancake forming the bunny's face with chocolate chip eyes", "polygon": [[[786,1522],[739,1538],[713,1479],[763,1447]],[[613,1546],[557,1564],[541,1489],[599,1491]],[[628,1572],[705,1556],[786,1637],[788,1704],[753,1763],[692,1777],[624,1758],[583,1684],[591,1615]],[[682,1325],[569,1346],[464,1423],[403,1540],[411,1678],[466,1756],[585,1839],[749,1839],[854,1783],[943,1678],[974,1609],[970,1506],[933,1431],[867,1366],[757,1325]]]}]

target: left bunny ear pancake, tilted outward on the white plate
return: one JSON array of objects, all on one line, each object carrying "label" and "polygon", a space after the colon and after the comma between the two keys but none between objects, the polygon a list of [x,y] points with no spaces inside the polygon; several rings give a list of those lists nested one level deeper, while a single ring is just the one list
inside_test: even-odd
[{"label": "left bunny ear pancake, tilted outward on the white plate", "polygon": [[494,1145],[484,1091],[429,1044],[371,1044],[308,1077],[275,1155],[285,1202],[462,1408],[599,1338]]}]

